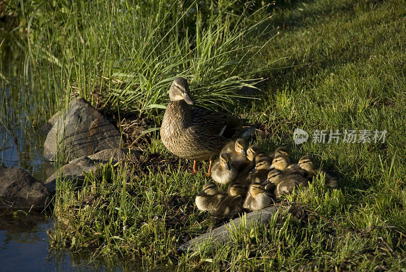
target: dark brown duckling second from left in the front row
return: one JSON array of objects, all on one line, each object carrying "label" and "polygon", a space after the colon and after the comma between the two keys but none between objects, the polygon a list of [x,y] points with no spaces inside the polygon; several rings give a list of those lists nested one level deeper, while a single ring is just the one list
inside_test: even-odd
[{"label": "dark brown duckling second from left in the front row", "polygon": [[243,212],[243,202],[246,194],[245,188],[236,182],[228,186],[228,195],[219,203],[214,216],[229,219]]}]

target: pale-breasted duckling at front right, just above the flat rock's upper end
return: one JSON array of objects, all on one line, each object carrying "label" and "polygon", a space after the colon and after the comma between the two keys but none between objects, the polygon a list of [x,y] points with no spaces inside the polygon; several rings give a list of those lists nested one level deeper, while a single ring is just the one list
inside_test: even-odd
[{"label": "pale-breasted duckling at front right, just above the flat rock's upper end", "polygon": [[244,208],[250,211],[258,211],[274,202],[274,195],[265,191],[260,183],[253,183],[250,186],[247,197],[244,201]]}]

